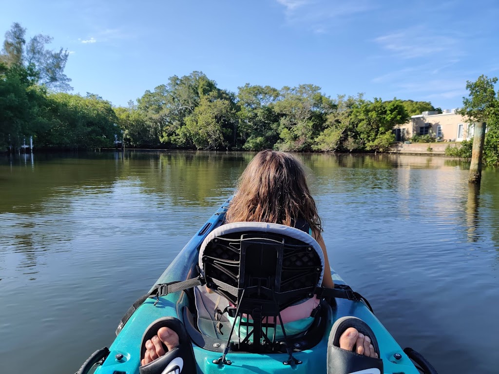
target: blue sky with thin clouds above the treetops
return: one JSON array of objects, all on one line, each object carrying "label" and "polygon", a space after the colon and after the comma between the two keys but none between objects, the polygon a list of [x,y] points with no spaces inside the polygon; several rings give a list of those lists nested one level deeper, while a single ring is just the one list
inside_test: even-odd
[{"label": "blue sky with thin clouds above the treetops", "polygon": [[0,33],[53,36],[73,92],[114,105],[201,70],[231,91],[313,83],[451,109],[499,75],[498,19],[497,0],[28,0],[1,5]]}]

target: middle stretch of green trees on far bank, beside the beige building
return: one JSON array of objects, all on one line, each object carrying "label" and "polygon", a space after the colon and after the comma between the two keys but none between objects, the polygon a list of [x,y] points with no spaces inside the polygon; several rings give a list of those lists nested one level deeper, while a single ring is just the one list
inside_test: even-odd
[{"label": "middle stretch of green trees on far bank, beside the beige building", "polygon": [[246,84],[233,93],[205,74],[169,78],[115,109],[132,147],[258,151],[386,151],[393,127],[435,110],[429,102],[326,96],[302,84],[276,89]]}]

